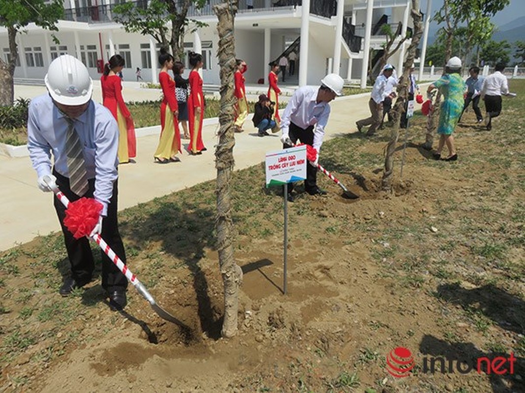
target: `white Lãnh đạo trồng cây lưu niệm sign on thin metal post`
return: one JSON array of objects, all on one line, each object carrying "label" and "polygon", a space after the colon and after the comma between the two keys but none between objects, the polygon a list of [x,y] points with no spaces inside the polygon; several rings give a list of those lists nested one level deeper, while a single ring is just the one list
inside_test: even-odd
[{"label": "white L\u00e3nh \u0111\u1ea1o tr\u1ed3ng c\u00e2y l\u01b0u ni\u1ec7m sign on thin metal post", "polygon": [[283,187],[285,234],[282,292],[287,293],[288,183],[306,179],[306,145],[266,153],[266,187]]}]

